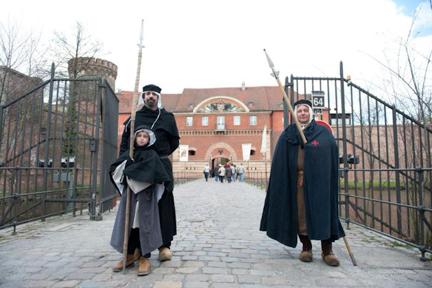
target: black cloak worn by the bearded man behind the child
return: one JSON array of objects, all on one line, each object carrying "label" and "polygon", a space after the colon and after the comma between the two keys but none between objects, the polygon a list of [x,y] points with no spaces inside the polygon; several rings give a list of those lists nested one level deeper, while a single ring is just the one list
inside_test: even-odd
[{"label": "black cloak worn by the bearded man behind the child", "polygon": [[[129,149],[130,118],[123,124],[125,125],[125,130],[121,136],[120,154]],[[173,236],[177,234],[176,207],[174,206],[172,193],[174,189],[173,168],[168,158],[177,149],[179,144],[180,136],[178,134],[176,119],[172,113],[167,112],[164,108],[152,110],[143,106],[141,110],[136,111],[134,125],[135,127],[144,125],[149,128],[152,128],[153,125],[152,130],[156,132],[157,139],[154,149],[165,167],[169,178],[171,178],[170,182],[165,183],[165,192],[158,202],[160,229],[162,230],[163,243],[167,245],[172,241]]]}]

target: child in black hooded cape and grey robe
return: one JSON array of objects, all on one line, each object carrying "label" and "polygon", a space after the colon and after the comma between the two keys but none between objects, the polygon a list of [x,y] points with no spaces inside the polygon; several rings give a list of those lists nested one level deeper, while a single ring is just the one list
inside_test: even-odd
[{"label": "child in black hooded cape and grey robe", "polygon": [[[134,156],[130,158],[129,150],[125,151],[110,166],[110,178],[121,194],[121,202],[110,244],[115,250],[123,253],[125,230],[126,189],[130,193],[130,218],[128,256],[126,266],[134,266],[139,255],[138,275],[150,273],[150,252],[163,245],[160,232],[158,200],[164,191],[164,182],[170,178],[160,162],[158,154],[154,151],[156,134],[153,130],[139,126],[134,130]],[[136,254],[136,253],[135,253]],[[112,267],[114,272],[123,269],[123,260]]]}]

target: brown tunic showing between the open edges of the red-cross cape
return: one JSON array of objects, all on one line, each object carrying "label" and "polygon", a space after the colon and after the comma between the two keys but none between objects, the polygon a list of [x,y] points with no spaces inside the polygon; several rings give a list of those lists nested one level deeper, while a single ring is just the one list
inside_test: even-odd
[{"label": "brown tunic showing between the open edges of the red-cross cape", "polygon": [[304,149],[298,146],[297,158],[297,217],[298,217],[298,235],[307,235],[306,227],[306,208],[304,207],[303,193],[303,167],[304,167]]}]

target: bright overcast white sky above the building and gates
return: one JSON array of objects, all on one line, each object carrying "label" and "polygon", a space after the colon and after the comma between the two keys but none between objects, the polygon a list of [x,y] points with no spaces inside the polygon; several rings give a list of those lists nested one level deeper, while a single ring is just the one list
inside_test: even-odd
[{"label": "bright overcast white sky above the building and gates", "polygon": [[[79,21],[104,43],[102,59],[118,67],[116,90],[133,91],[141,20],[144,21],[140,87],[162,93],[184,88],[276,86],[263,49],[280,78],[344,76],[364,88],[385,75],[374,60],[394,52],[411,27],[416,49],[432,47],[429,0],[141,0],[2,1],[0,21],[25,31],[73,35]],[[60,4],[61,3],[61,4]],[[141,90],[141,88],[140,88]]]}]

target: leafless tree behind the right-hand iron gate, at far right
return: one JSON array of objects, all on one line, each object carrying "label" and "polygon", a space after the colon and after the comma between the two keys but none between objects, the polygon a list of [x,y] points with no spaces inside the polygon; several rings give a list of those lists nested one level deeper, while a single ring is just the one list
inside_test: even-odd
[{"label": "leafless tree behind the right-hand iron gate, at far right", "polygon": [[[429,0],[429,3],[432,10],[432,1]],[[388,77],[382,88],[383,91],[392,96],[396,108],[420,123],[417,128],[410,127],[409,123],[411,122],[405,122],[401,120],[402,118],[397,119],[397,123],[394,123],[394,125],[398,125],[398,134],[405,143],[407,154],[400,154],[400,157],[406,159],[406,167],[418,167],[418,165],[431,167],[432,77],[430,73],[432,48],[429,46],[426,50],[420,51],[416,47],[419,34],[415,32],[415,27],[421,9],[420,6],[414,12],[411,26],[405,38],[396,38],[394,40],[397,47],[392,50],[394,53],[387,51],[384,61],[372,57],[388,72]],[[413,141],[413,139],[418,140]],[[430,208],[432,203],[430,199],[432,172],[422,171],[418,178],[414,174],[416,173],[411,173],[410,183],[406,187],[406,189],[409,189],[409,203],[407,204],[417,205],[422,200],[422,204]],[[420,185],[423,189],[422,195],[418,191]],[[432,217],[429,217],[428,221],[431,221],[431,219]],[[420,222],[418,211],[412,211],[411,223],[416,227],[416,230],[411,237],[416,241],[420,239]],[[431,247],[431,230],[424,228],[423,232],[426,235],[427,246]]]}]

